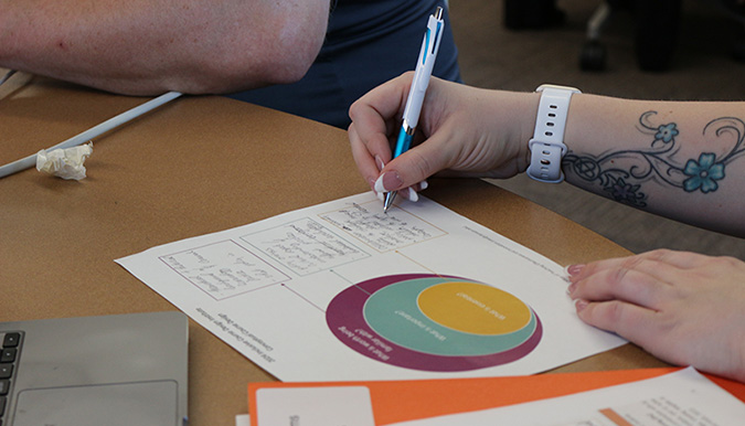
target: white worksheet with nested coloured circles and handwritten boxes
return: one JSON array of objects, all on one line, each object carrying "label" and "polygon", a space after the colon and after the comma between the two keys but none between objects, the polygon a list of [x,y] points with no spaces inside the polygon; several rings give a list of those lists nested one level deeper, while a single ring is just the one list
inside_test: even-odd
[{"label": "white worksheet with nested coloured circles and handwritten boxes", "polygon": [[[576,317],[561,266],[425,198],[384,214],[358,194],[116,262],[283,381],[533,374],[625,343]],[[501,290],[485,290],[497,303],[512,295],[529,307],[540,332],[478,337],[478,353],[398,339],[401,306],[471,337],[448,307],[483,286]],[[340,327],[375,332],[395,356],[362,356]]]}]

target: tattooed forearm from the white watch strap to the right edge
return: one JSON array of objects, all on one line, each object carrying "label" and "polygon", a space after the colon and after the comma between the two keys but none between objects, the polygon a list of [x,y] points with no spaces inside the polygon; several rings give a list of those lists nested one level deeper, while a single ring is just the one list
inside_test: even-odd
[{"label": "tattooed forearm from the white watch strap to the right edge", "polygon": [[573,97],[563,161],[577,187],[745,236],[745,103]]}]

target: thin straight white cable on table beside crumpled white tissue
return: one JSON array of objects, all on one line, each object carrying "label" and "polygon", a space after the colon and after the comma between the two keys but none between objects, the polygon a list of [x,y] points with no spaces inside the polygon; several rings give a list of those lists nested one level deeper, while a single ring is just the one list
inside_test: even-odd
[{"label": "thin straight white cable on table beside crumpled white tissue", "polygon": [[[160,95],[155,99],[148,100],[142,105],[136,106],[135,108],[131,108],[127,111],[124,111],[119,114],[118,116],[111,117],[108,120],[94,126],[87,130],[85,130],[82,134],[78,134],[76,136],[73,136],[72,138],[60,142],[55,145],[54,147],[50,148],[52,149],[58,149],[58,148],[70,148],[70,147],[75,147],[81,143],[85,143],[91,139],[94,139],[111,129],[114,129],[117,126],[120,126],[134,118],[137,118],[141,116],[145,113],[148,113],[151,109],[158,108],[159,106],[175,99],[177,97],[181,96],[181,93],[179,92],[169,92],[164,95]],[[22,158],[20,160],[13,161],[11,163],[8,163],[6,166],[0,167],[0,179],[4,178],[9,174],[17,173],[21,170],[25,170],[28,168],[34,167],[36,164],[36,155],[31,155],[26,158]]]}]

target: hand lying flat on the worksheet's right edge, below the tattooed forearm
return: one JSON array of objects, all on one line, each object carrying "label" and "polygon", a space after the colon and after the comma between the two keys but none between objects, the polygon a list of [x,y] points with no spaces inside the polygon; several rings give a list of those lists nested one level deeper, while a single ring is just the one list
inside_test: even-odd
[{"label": "hand lying flat on the worksheet's right edge, below the tattooed forearm", "polygon": [[745,382],[745,263],[654,251],[568,267],[585,322],[678,364]]}]

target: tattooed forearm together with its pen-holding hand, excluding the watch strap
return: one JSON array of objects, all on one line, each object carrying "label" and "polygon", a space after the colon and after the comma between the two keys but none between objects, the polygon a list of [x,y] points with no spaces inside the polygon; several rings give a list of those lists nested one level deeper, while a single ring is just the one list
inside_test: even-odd
[{"label": "tattooed forearm together with its pen-holding hand, excluding the watch strap", "polygon": [[[398,126],[409,82],[411,75],[396,78],[350,110],[352,152],[374,189],[404,189],[437,172],[509,178],[525,171],[539,95],[436,78],[419,123],[427,140],[391,160],[391,129]],[[582,94],[570,106],[563,169],[567,182],[621,203],[745,236],[744,139],[743,102]]]}]

